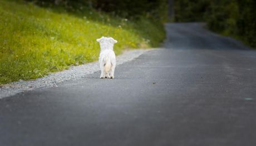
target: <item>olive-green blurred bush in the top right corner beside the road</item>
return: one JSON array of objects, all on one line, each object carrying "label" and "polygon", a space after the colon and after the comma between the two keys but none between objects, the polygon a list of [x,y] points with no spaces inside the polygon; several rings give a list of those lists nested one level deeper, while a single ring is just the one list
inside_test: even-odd
[{"label": "olive-green blurred bush in the top right corner beside the road", "polygon": [[205,13],[205,20],[209,29],[256,47],[255,7],[254,0],[212,2],[210,10]]}]

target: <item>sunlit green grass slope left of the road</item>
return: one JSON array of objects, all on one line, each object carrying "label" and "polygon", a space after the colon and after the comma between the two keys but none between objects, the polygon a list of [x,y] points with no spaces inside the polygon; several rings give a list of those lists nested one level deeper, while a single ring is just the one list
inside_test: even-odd
[{"label": "sunlit green grass slope left of the road", "polygon": [[0,0],[0,84],[95,61],[100,52],[96,39],[101,36],[118,40],[114,50],[120,54],[157,46],[165,33],[151,20],[126,20],[86,6],[67,10]]}]

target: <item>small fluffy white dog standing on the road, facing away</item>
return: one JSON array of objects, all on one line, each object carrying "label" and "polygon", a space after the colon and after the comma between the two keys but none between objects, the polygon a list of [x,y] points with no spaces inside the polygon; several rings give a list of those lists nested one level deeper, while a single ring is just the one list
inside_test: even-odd
[{"label": "small fluffy white dog standing on the road, facing away", "polygon": [[116,55],[113,51],[113,48],[117,41],[111,37],[101,37],[100,39],[97,39],[97,41],[100,43],[100,78],[104,79],[106,77],[114,79]]}]

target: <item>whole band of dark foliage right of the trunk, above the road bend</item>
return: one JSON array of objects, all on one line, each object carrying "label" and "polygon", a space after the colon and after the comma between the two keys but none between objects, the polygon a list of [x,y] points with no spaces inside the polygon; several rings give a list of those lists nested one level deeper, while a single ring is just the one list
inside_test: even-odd
[{"label": "whole band of dark foliage right of the trunk, above the road bend", "polygon": [[256,47],[255,0],[176,0],[176,22],[207,22],[209,29]]}]

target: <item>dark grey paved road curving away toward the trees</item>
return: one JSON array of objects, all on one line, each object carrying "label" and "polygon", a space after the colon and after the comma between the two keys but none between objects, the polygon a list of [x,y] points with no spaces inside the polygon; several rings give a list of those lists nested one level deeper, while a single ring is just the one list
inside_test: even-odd
[{"label": "dark grey paved road curving away toward the trees", "polygon": [[166,24],[166,49],[0,100],[0,145],[256,145],[256,51],[201,24]]}]

